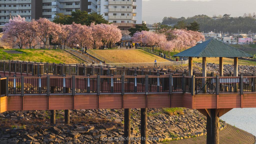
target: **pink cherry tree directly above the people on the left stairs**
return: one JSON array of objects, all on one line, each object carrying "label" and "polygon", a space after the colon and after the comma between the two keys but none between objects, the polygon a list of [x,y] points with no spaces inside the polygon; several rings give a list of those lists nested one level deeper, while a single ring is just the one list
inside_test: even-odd
[{"label": "pink cherry tree directly above the people on the left stairs", "polygon": [[70,38],[72,38],[74,45],[79,44],[80,47],[83,47],[84,45],[92,45],[89,40],[91,39],[91,30],[88,26],[73,23],[71,27]]}]

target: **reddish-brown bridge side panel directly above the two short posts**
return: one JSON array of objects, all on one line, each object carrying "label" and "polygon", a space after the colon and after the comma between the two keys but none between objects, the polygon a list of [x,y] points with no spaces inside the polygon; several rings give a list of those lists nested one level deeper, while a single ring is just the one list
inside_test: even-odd
[{"label": "reddish-brown bridge side panel directly above the two short posts", "polygon": [[49,110],[73,109],[72,95],[50,95]]}]

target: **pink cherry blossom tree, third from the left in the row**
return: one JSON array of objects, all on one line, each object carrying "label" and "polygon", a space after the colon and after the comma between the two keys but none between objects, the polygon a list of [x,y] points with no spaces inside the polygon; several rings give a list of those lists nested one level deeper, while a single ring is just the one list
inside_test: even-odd
[{"label": "pink cherry blossom tree, third from the left in the row", "polygon": [[46,45],[50,37],[58,39],[61,33],[61,26],[48,20],[47,18],[39,18],[38,22],[38,37],[41,42]]}]

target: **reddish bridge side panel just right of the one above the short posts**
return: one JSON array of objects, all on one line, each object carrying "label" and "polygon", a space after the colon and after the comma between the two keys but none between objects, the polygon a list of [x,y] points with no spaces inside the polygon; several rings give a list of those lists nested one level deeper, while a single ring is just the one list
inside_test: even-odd
[{"label": "reddish bridge side panel just right of the one above the short posts", "polygon": [[98,96],[97,95],[75,95],[74,109],[97,109]]}]

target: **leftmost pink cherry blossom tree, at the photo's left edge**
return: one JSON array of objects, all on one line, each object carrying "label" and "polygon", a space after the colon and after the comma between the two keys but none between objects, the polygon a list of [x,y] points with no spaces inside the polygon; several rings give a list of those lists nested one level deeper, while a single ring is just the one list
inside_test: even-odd
[{"label": "leftmost pink cherry blossom tree, at the photo's left edge", "polygon": [[6,23],[3,28],[1,40],[12,48],[18,46],[21,49],[26,46],[27,39],[24,37],[24,33],[26,32],[24,25],[26,23],[25,18],[19,15],[10,19],[9,23]]}]

